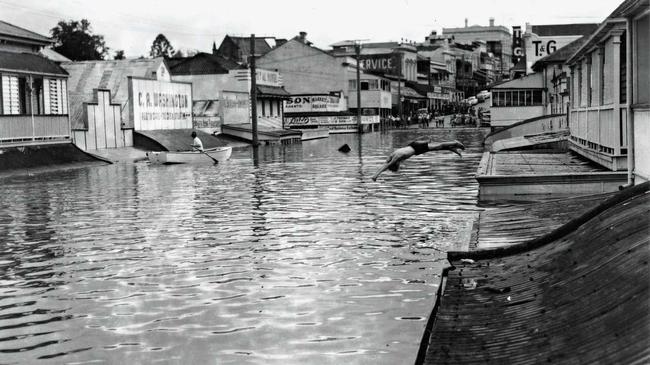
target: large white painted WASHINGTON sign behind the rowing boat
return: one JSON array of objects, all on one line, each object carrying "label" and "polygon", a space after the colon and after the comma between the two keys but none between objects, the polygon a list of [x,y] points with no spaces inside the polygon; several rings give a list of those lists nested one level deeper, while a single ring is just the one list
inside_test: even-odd
[{"label": "large white painted WASHINGTON sign behind the rowing boat", "polygon": [[192,85],[130,78],[136,130],[192,128]]}]

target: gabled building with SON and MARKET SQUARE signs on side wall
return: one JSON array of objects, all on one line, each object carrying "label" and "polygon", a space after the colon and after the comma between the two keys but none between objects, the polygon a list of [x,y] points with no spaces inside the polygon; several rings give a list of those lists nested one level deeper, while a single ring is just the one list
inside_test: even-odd
[{"label": "gabled building with SON and MARKET SQUARE signs on side wall", "polygon": [[[261,56],[256,64],[280,72],[284,87],[293,97],[285,102],[285,126],[327,127],[333,133],[358,131],[353,57],[314,47],[301,32]],[[381,76],[362,72],[360,94],[364,129],[374,128],[380,117],[390,114],[390,84]],[[308,101],[308,105],[298,107],[293,101]]]}]

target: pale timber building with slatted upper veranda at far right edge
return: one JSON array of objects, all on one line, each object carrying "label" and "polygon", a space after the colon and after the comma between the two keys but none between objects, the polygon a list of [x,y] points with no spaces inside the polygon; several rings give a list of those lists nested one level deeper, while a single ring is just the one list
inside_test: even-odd
[{"label": "pale timber building with slatted upper veranda at far right edge", "polygon": [[568,60],[569,148],[650,180],[650,5],[626,0]]}]

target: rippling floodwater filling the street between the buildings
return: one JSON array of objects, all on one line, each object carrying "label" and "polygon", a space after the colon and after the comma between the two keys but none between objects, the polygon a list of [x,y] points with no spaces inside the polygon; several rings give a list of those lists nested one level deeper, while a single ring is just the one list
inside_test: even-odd
[{"label": "rippling floodwater filling the street between the buildings", "polygon": [[[370,179],[422,134],[468,149]],[[3,178],[0,363],[413,363],[445,251],[478,212],[482,137],[332,135],[216,167]]]}]

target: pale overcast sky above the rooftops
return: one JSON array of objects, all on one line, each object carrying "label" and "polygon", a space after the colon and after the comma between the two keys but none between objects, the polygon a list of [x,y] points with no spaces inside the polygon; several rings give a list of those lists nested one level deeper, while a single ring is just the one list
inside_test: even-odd
[{"label": "pale overcast sky above the rooftops", "polygon": [[421,42],[443,27],[600,23],[621,1],[593,0],[0,0],[0,19],[50,36],[60,20],[88,19],[94,34],[128,58],[148,56],[164,34],[175,49],[210,52],[226,34],[291,38],[329,48],[347,40]]}]

